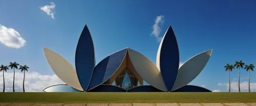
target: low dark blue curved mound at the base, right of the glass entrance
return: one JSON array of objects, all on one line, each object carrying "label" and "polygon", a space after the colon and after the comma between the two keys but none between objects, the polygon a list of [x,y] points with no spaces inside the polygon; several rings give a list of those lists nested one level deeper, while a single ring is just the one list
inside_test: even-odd
[{"label": "low dark blue curved mound at the base, right of the glass entrance", "polygon": [[162,91],[159,89],[156,89],[153,86],[138,86],[138,87],[129,89],[127,92],[162,92]]}]

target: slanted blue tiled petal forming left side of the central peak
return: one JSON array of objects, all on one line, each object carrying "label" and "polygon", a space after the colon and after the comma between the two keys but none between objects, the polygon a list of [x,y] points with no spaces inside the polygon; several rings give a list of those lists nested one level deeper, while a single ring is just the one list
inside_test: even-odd
[{"label": "slanted blue tiled petal forming left side of the central peak", "polygon": [[126,55],[126,51],[127,48],[119,50],[97,64],[94,68],[88,90],[104,83],[116,72]]}]

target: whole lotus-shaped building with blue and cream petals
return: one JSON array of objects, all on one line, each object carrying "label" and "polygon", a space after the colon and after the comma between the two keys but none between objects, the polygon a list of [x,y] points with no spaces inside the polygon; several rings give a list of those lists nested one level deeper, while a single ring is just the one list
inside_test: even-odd
[{"label": "whole lotus-shaped building with blue and cream petals", "polygon": [[94,44],[87,25],[76,47],[75,68],[54,51],[44,51],[52,70],[66,83],[49,86],[45,92],[211,92],[187,84],[203,70],[212,49],[179,67],[179,48],[171,26],[160,43],[156,65],[131,48],[118,50],[95,65]]}]

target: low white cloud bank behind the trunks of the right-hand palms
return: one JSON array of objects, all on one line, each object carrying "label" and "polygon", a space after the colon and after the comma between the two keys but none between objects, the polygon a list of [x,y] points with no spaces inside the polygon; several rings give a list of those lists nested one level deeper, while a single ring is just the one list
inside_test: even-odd
[{"label": "low white cloud bank behind the trunks of the right-hand palms", "polygon": [[[220,84],[220,85],[219,85]],[[222,84],[219,83],[219,86],[225,86],[226,89],[228,90],[229,84]],[[230,89],[232,92],[238,92],[238,82],[231,82],[230,83]],[[248,92],[248,82],[241,82],[240,83],[240,89],[242,92]],[[250,83],[250,89],[252,92],[256,92],[256,83]]]}]

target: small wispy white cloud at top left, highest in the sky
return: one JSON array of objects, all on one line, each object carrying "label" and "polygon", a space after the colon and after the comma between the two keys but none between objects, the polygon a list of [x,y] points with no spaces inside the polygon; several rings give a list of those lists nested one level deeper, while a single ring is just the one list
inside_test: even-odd
[{"label": "small wispy white cloud at top left, highest in the sky", "polygon": [[54,9],[55,9],[55,4],[53,2],[50,3],[50,5],[45,5],[40,7],[40,9],[44,12],[47,13],[47,15],[51,16],[53,19],[55,19],[54,17]]}]

